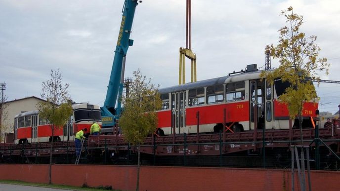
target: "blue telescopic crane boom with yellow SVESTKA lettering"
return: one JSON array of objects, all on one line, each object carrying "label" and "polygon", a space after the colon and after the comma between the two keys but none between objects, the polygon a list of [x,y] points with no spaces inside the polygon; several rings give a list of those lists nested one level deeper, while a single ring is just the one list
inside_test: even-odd
[{"label": "blue telescopic crane boom with yellow SVESTKA lettering", "polygon": [[116,120],[121,112],[120,98],[123,94],[125,59],[128,47],[133,44],[133,40],[129,38],[134,12],[138,2],[141,1],[125,0],[123,5],[122,22],[113,59],[110,81],[107,86],[108,89],[106,92],[104,106],[100,108],[102,116],[102,133],[113,132],[113,126],[116,124]]}]

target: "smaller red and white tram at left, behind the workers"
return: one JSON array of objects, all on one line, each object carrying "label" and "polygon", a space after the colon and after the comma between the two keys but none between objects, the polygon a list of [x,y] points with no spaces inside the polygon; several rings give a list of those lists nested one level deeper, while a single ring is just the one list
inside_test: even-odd
[{"label": "smaller red and white tram at left, behind the workers", "polygon": [[[101,126],[99,106],[87,103],[73,104],[73,114],[63,127],[55,127],[53,142],[72,141],[74,133],[87,128],[94,121]],[[39,111],[29,111],[15,115],[14,118],[14,143],[22,144],[35,142],[51,142],[52,130],[46,120],[39,117]]]}]

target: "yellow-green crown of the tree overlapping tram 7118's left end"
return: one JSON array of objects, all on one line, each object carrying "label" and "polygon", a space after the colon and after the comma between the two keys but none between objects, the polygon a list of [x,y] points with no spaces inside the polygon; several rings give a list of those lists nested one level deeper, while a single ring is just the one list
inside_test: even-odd
[{"label": "yellow-green crown of the tree overlapping tram 7118's left end", "polygon": [[155,111],[161,109],[162,100],[157,93],[158,87],[150,79],[142,76],[139,70],[133,72],[133,76],[129,94],[122,100],[124,112],[119,125],[127,142],[139,145],[156,130],[158,118]]}]

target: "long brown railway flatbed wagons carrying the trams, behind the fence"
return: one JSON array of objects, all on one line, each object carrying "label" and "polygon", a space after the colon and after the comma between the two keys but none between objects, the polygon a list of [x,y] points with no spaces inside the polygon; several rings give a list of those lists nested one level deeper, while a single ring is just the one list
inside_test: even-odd
[{"label": "long brown railway flatbed wagons carrying the trams, behind the fence", "polygon": [[[303,145],[310,146],[313,160],[316,144],[320,146],[322,160],[329,162],[330,151],[339,154],[340,120],[334,120],[331,128],[302,129]],[[264,140],[263,140],[264,135]],[[318,142],[316,141],[318,140]],[[248,166],[250,163],[261,166],[263,151],[266,153],[267,166],[289,164],[290,148],[300,144],[300,129],[292,127],[284,130],[255,129],[244,132],[194,133],[147,137],[140,146],[141,159],[145,164],[183,165],[183,159],[190,158],[191,164],[218,166],[220,160],[224,165]],[[45,163],[50,154],[51,143],[2,144],[0,146],[2,162]],[[312,152],[313,151],[313,152]],[[83,146],[85,163],[135,163],[137,146],[127,144],[123,135],[88,136]],[[73,141],[53,143],[53,163],[73,163],[75,144]],[[336,157],[333,157],[336,160]],[[157,161],[159,160],[159,161]],[[254,160],[257,161],[254,164]],[[132,161],[132,162],[131,162]],[[201,162],[200,162],[201,161]],[[209,162],[207,162],[209,161]],[[253,162],[252,162],[253,161]],[[241,164],[239,164],[239,162]]]}]

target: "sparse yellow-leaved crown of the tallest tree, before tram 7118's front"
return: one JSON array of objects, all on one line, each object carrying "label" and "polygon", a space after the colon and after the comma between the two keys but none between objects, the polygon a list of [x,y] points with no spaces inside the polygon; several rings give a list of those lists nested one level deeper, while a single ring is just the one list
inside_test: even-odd
[{"label": "sparse yellow-leaved crown of the tallest tree, before tram 7118's front", "polygon": [[319,73],[328,75],[330,64],[326,58],[318,58],[320,47],[315,43],[316,36],[309,38],[300,32],[303,17],[293,12],[293,7],[281,11],[286,17],[288,26],[279,30],[279,44],[267,45],[265,52],[270,52],[273,59],[279,59],[280,66],[274,71],[263,71],[261,77],[267,77],[270,83],[281,78],[291,86],[280,96],[280,100],[287,104],[289,115],[294,118],[301,116],[303,103],[314,100],[317,95],[310,79],[320,79]]}]

